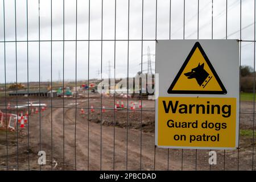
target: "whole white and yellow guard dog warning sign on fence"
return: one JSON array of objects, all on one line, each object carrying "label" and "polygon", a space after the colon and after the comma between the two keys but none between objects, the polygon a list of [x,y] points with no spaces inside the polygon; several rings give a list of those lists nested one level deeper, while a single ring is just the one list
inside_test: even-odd
[{"label": "whole white and yellow guard dog warning sign on fence", "polygon": [[239,42],[156,43],[155,144],[163,148],[235,149],[239,121]]}]

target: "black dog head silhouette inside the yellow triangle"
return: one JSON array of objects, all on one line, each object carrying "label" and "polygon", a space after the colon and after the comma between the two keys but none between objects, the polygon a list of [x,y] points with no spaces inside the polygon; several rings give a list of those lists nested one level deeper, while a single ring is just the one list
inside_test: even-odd
[{"label": "black dog head silhouette inside the yellow triangle", "polygon": [[205,71],[204,63],[201,65],[199,63],[196,68],[193,68],[191,72],[184,73],[184,75],[187,76],[188,79],[196,78],[197,84],[201,86],[208,77],[209,73]]}]

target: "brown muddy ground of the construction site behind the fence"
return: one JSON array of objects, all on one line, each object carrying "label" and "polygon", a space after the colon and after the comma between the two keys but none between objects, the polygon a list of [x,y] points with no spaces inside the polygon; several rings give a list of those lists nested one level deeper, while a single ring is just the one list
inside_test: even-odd
[{"label": "brown muddy ground of the construction site behind the fence", "polygon": [[[90,94],[88,98],[41,98],[48,109],[29,116],[24,129],[0,130],[0,170],[251,170],[255,137],[240,136],[240,150],[216,150],[217,164],[208,163],[209,150],[155,148],[155,101],[118,98],[125,107],[137,103],[138,110],[114,110],[113,97]],[[5,111],[5,100],[0,110]],[[39,103],[39,98],[29,98]],[[8,97],[11,105],[26,104],[27,98]],[[77,109],[76,107],[77,102]],[[52,103],[52,107],[51,106]],[[65,109],[63,109],[63,105]],[[100,107],[105,106],[101,114]],[[94,112],[90,107],[94,107]],[[80,114],[84,108],[85,114]],[[253,129],[253,102],[241,102],[241,130]],[[9,109],[9,113],[20,113]],[[88,122],[89,121],[89,122]],[[102,121],[102,122],[101,122]],[[128,121],[128,122],[127,122]],[[254,127],[255,129],[255,127]],[[89,140],[88,140],[89,139]],[[254,144],[253,144],[254,142]],[[142,144],[141,144],[142,143]],[[46,165],[39,166],[38,151],[45,151]],[[254,161],[255,161],[254,155]],[[238,165],[239,164],[239,165]],[[256,164],[254,163],[254,169]]]}]

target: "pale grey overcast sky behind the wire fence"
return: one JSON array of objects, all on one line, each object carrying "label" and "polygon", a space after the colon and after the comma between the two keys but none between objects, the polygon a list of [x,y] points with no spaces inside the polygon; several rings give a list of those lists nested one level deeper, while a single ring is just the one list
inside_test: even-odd
[{"label": "pale grey overcast sky behind the wire fence", "polygon": [[[27,81],[27,42],[28,43],[28,80],[39,81],[39,2],[28,0],[16,1],[16,43],[15,51],[15,1],[5,0],[5,39],[6,39],[6,82],[16,81],[16,61],[18,82]],[[152,67],[155,67],[155,39],[183,39],[183,1],[171,0],[171,34],[170,34],[170,0],[158,0],[157,37],[156,1],[144,0],[143,9],[143,55],[142,42],[142,0],[117,1],[116,39],[138,40],[128,43],[117,41],[115,49],[116,77],[134,76],[141,71],[141,61],[147,62],[147,50],[150,48]],[[90,37],[89,37],[89,1],[77,0],[77,40],[114,40],[115,1],[90,1]],[[103,26],[101,27],[101,17]],[[0,82],[5,82],[4,59],[4,23],[3,0],[0,0]],[[242,40],[254,40],[254,1],[242,0]],[[27,37],[28,32],[28,37]],[[213,39],[225,39],[226,35],[226,1],[213,1]],[[212,38],[212,0],[199,1],[199,39]],[[64,37],[63,37],[63,0],[52,0],[52,40],[76,39],[76,0],[64,1]],[[185,1],[185,39],[197,39],[197,0]],[[240,0],[228,0],[228,39],[240,39]],[[40,40],[51,40],[51,0],[40,1]],[[9,42],[8,42],[9,41]],[[76,77],[76,42],[65,42],[64,79],[75,80]],[[242,65],[254,65],[253,42],[242,43]],[[15,54],[16,52],[16,54]],[[114,41],[90,41],[89,78],[96,78],[98,72],[114,76]],[[16,56],[15,56],[16,55]],[[141,60],[143,57],[143,60]],[[16,59],[17,58],[17,59]],[[102,60],[101,60],[102,59]],[[129,70],[128,70],[129,69]],[[147,63],[143,64],[147,72]],[[154,71],[154,70],[153,70]],[[63,42],[52,42],[52,80],[63,79]],[[77,42],[77,80],[88,79],[88,41]],[[51,81],[51,42],[40,42],[40,80]]]}]

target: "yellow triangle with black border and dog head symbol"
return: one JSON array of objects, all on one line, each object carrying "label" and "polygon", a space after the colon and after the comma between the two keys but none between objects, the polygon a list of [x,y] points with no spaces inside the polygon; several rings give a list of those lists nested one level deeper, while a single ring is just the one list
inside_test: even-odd
[{"label": "yellow triangle with black border and dog head symbol", "polygon": [[199,42],[195,43],[168,93],[226,94],[226,89]]}]

